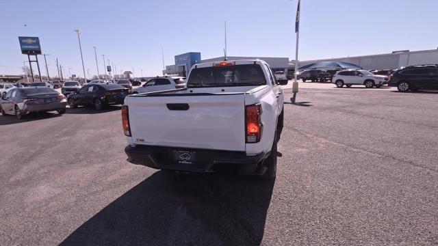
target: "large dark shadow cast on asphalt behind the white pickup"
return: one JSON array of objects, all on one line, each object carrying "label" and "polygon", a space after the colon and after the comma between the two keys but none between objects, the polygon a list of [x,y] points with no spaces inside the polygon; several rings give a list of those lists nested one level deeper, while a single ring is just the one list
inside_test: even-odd
[{"label": "large dark shadow cast on asphalt behind the white pickup", "polygon": [[156,172],[60,245],[259,245],[274,181]]}]

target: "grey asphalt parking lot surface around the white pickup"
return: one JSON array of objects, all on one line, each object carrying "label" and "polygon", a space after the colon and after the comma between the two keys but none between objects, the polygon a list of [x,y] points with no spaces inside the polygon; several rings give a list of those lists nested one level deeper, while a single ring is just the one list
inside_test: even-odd
[{"label": "grey asphalt parking lot surface around the white pickup", "polygon": [[438,93],[300,87],[274,182],[131,165],[118,106],[0,116],[0,245],[438,245]]}]

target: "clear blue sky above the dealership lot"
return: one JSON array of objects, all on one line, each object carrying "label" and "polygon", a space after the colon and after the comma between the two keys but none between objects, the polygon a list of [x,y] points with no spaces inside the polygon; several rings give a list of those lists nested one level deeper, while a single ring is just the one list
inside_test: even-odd
[{"label": "clear blue sky above the dealership lot", "polygon": [[[160,74],[174,55],[199,51],[203,59],[221,56],[224,20],[228,55],[295,57],[297,0],[0,0],[0,74],[21,73],[18,36],[38,36],[55,74],[58,57],[72,74],[82,75],[77,36],[81,29],[86,69],[96,74],[110,59],[118,72]],[[299,59],[322,59],[437,49],[437,0],[302,0]],[[27,27],[24,27],[24,25]],[[42,56],[40,56],[42,60]],[[41,71],[45,74],[45,70]]]}]

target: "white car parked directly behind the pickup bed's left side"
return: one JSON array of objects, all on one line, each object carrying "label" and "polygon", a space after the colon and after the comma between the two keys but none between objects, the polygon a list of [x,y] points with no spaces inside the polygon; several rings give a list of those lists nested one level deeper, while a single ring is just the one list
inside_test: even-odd
[{"label": "white car parked directly behind the pickup bed's left side", "polygon": [[185,87],[185,77],[156,77],[150,79],[142,87],[134,88],[133,94],[175,90]]}]

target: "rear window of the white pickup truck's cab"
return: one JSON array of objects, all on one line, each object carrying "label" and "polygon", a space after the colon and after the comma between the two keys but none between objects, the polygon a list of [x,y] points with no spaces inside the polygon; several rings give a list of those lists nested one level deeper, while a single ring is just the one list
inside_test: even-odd
[{"label": "rear window of the white pickup truck's cab", "polygon": [[263,70],[257,64],[194,68],[187,87],[225,87],[266,85]]}]

